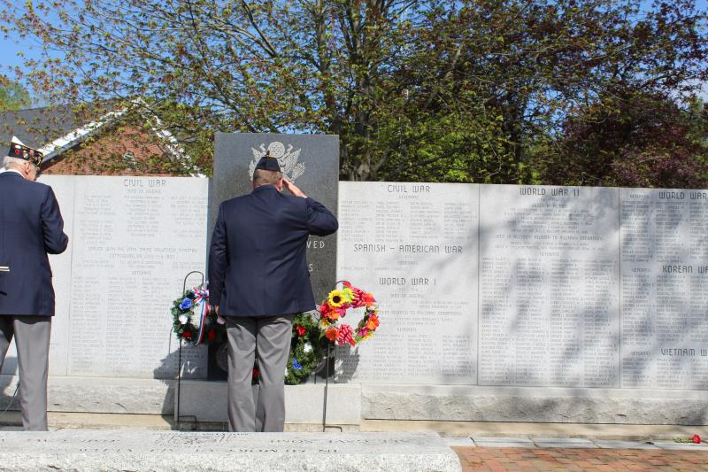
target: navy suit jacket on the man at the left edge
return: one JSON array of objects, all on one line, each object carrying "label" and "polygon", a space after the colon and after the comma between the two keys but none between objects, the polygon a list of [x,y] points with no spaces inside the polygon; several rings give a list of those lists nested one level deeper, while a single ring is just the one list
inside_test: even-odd
[{"label": "navy suit jacket on the man at the left edge", "polygon": [[69,237],[51,187],[16,172],[0,174],[0,316],[54,316],[47,254],[60,254]]}]

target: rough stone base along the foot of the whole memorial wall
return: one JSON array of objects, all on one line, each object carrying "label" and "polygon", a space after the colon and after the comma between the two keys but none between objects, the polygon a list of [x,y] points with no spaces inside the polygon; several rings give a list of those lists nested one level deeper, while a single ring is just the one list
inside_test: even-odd
[{"label": "rough stone base along the foot of the whole memorial wall", "polygon": [[[17,377],[0,375],[0,410]],[[75,413],[176,413],[173,380],[50,377],[49,410]],[[298,430],[322,425],[324,383],[287,385],[286,418]],[[17,409],[17,399],[12,406]],[[227,384],[183,380],[182,426],[227,422]],[[708,425],[704,391],[476,385],[329,383],[327,425],[358,430],[365,420]]]}]

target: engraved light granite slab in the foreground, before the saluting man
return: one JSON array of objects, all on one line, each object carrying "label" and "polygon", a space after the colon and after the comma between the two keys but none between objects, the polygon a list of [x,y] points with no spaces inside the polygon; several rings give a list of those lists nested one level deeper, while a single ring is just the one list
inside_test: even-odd
[{"label": "engraved light granite slab in the foreground, before the saluting man", "polygon": [[435,433],[0,431],[0,470],[449,471]]}]

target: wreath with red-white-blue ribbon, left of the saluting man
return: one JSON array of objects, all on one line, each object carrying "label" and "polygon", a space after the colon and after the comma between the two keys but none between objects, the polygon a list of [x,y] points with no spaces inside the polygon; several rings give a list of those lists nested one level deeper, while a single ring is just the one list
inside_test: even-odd
[{"label": "wreath with red-white-blue ribbon, left of the saluting man", "polygon": [[186,344],[220,343],[226,339],[226,328],[219,324],[209,306],[206,284],[194,287],[173,301],[173,331]]}]

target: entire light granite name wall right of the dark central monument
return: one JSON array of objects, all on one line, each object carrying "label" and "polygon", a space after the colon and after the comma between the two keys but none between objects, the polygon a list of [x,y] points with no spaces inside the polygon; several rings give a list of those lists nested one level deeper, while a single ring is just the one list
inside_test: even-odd
[{"label": "entire light granite name wall right of the dark central monument", "polygon": [[708,191],[341,182],[339,382],[708,390]]}]

